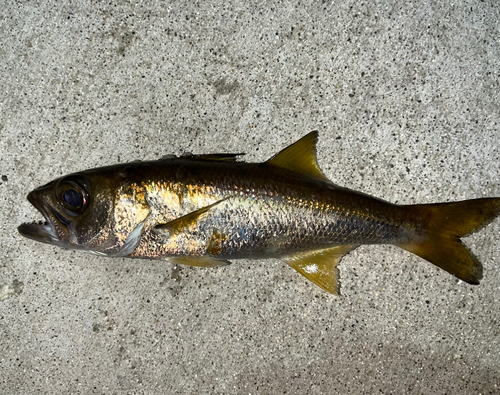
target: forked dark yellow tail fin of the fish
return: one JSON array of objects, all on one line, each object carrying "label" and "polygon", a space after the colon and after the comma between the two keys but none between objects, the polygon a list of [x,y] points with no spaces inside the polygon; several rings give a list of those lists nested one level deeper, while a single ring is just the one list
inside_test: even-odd
[{"label": "forked dark yellow tail fin of the fish", "polygon": [[500,198],[405,206],[417,236],[398,244],[469,284],[479,284],[481,263],[460,241],[500,214]]}]

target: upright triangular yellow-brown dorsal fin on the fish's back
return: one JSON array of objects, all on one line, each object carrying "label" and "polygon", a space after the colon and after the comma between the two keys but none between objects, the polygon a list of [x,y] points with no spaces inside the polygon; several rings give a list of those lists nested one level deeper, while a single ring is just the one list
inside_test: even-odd
[{"label": "upright triangular yellow-brown dorsal fin on the fish's back", "polygon": [[288,146],[284,150],[269,159],[266,163],[316,177],[321,180],[330,181],[319,169],[316,161],[316,143],[318,142],[318,131],[315,130],[299,141]]}]

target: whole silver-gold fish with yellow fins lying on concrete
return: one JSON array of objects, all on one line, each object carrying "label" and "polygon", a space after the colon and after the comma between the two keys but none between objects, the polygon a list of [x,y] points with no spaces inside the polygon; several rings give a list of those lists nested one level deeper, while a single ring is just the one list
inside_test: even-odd
[{"label": "whole silver-gold fish with yellow fins lying on concrete", "polygon": [[460,239],[500,214],[500,198],[393,204],[331,182],[317,141],[311,132],[262,163],[167,155],[66,175],[28,194],[45,221],[18,231],[65,249],[195,267],[277,258],[331,294],[347,253],[388,244],[479,284],[482,265]]}]

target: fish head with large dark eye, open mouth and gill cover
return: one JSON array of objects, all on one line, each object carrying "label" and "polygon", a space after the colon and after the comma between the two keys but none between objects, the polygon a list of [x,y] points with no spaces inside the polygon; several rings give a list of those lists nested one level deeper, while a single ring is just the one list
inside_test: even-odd
[{"label": "fish head with large dark eye, open mouth and gill cover", "polygon": [[90,170],[36,188],[27,198],[45,221],[22,224],[19,233],[65,249],[129,255],[139,242],[149,208],[140,188],[122,178]]}]

